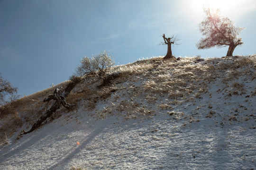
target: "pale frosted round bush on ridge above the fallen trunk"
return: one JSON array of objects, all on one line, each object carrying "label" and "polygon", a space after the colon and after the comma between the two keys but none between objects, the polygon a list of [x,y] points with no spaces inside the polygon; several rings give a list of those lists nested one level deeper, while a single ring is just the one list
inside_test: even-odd
[{"label": "pale frosted round bush on ridge above the fallen trunk", "polygon": [[107,51],[102,51],[91,58],[85,56],[80,61],[81,65],[76,68],[76,75],[98,75],[101,80],[105,79],[107,69],[112,67],[115,63]]}]

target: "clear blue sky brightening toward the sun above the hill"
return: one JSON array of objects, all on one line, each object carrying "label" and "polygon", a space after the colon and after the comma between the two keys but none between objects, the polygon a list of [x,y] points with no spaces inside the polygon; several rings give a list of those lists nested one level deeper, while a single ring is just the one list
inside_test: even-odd
[{"label": "clear blue sky brightening toward the sun above the hill", "polygon": [[176,57],[223,57],[228,47],[198,50],[203,6],[220,8],[256,53],[256,0],[0,0],[0,73],[21,96],[69,79],[84,56],[107,50],[116,65],[165,56],[177,35]]}]

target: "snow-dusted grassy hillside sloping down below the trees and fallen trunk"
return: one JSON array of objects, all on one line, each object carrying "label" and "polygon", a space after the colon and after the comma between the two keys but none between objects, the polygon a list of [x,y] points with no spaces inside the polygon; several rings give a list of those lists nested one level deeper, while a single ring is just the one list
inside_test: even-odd
[{"label": "snow-dusted grassy hillside sloping down below the trees and fallen trunk", "polygon": [[69,95],[74,110],[17,140],[50,103],[19,105],[0,169],[256,169],[255,55],[153,58],[111,73],[100,89],[85,77]]}]

